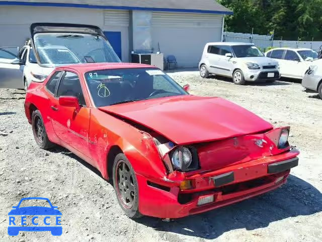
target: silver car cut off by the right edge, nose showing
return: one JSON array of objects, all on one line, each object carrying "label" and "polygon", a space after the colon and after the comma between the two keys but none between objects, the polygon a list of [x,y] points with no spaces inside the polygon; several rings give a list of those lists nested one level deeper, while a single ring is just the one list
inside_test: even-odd
[{"label": "silver car cut off by the right edge, nose showing", "polygon": [[302,86],[307,92],[317,92],[322,99],[322,59],[318,59],[310,66],[302,80]]}]

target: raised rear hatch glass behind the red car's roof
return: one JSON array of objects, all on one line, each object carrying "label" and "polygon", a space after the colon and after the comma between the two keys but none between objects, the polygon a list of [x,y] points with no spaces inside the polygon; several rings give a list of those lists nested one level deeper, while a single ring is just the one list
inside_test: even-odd
[{"label": "raised rear hatch glass behind the red car's roof", "polygon": [[45,66],[121,62],[110,43],[93,34],[39,33],[34,36],[34,45],[40,64]]}]

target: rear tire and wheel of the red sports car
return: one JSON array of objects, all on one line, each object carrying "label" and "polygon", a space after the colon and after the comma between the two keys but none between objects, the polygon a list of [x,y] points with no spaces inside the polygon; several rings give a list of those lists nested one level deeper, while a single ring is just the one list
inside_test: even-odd
[{"label": "rear tire and wheel of the red sports car", "polygon": [[55,144],[48,139],[44,120],[42,119],[39,110],[33,111],[31,115],[31,125],[35,141],[41,149],[47,150],[55,146]]}]

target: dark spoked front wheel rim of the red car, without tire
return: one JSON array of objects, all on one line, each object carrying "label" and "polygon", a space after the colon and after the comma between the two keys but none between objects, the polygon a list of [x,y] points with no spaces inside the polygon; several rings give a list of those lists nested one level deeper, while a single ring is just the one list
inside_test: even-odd
[{"label": "dark spoked front wheel rim of the red car, without tire", "polygon": [[121,160],[116,169],[117,193],[125,208],[130,209],[134,203],[134,180],[128,165]]}]

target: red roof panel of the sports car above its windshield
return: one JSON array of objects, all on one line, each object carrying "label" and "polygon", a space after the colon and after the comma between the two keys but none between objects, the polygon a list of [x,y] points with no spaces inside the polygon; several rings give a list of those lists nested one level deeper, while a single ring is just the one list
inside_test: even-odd
[{"label": "red roof panel of the sports car above its windshield", "polygon": [[145,64],[135,64],[135,63],[85,63],[85,64],[73,64],[62,67],[57,67],[55,70],[60,69],[72,69],[78,72],[90,72],[90,71],[100,71],[109,69],[131,69],[131,68],[157,68]]}]

